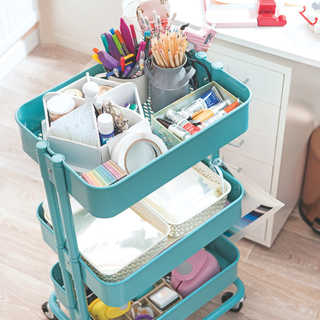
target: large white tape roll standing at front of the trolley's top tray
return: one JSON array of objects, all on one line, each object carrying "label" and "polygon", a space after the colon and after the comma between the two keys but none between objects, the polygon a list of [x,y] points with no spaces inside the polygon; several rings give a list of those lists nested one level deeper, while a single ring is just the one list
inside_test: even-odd
[{"label": "large white tape roll standing at front of the trolley's top tray", "polygon": [[166,145],[155,134],[133,132],[117,141],[112,149],[111,159],[129,174],[166,151]]}]

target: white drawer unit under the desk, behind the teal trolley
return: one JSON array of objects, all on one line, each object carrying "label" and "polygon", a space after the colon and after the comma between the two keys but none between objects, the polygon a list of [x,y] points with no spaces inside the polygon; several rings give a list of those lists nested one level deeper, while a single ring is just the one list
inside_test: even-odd
[{"label": "white drawer unit under the desk, behind the teal trolley", "polygon": [[[285,185],[288,191],[278,192],[281,167],[285,166],[282,150],[293,63],[216,38],[208,58],[222,62],[224,70],[245,83],[252,92],[249,128],[224,146],[220,156],[227,166],[236,169],[285,204],[276,213],[284,217],[281,220],[283,224],[299,200],[290,198],[289,194],[292,188],[301,187],[291,186],[289,179],[286,184],[283,177],[286,179],[288,170],[282,169],[281,188]],[[293,169],[291,171],[294,174]],[[274,221],[279,219],[269,218],[248,235],[248,239],[270,247],[282,227],[275,226]]]}]

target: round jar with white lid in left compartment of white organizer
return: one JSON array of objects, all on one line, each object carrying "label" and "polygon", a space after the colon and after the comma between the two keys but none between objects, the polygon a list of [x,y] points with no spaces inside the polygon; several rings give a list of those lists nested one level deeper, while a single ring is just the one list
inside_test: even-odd
[{"label": "round jar with white lid in left compartment of white organizer", "polygon": [[70,111],[74,110],[75,101],[68,95],[56,95],[47,101],[50,121],[56,121]]}]

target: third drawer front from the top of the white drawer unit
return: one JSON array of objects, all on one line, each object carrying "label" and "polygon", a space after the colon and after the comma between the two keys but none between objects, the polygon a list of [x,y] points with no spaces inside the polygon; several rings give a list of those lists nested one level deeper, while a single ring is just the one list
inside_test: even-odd
[{"label": "third drawer front from the top of the white drawer unit", "polygon": [[248,129],[244,134],[225,145],[223,149],[273,165],[275,147],[275,137]]}]

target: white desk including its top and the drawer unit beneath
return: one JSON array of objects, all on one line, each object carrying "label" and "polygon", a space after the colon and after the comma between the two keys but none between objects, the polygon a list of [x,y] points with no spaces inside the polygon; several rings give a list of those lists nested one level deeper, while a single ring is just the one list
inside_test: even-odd
[{"label": "white desk including its top and the drawer unit beneath", "polygon": [[[201,28],[206,22],[203,0],[183,3],[185,10],[175,9],[176,24]],[[266,246],[272,245],[299,200],[308,139],[320,124],[320,41],[299,11],[288,8],[285,27],[217,28],[208,51],[209,60],[223,62],[239,79],[249,79],[249,129],[240,137],[245,142],[240,148],[227,145],[220,155],[285,203],[248,237]]]}]

